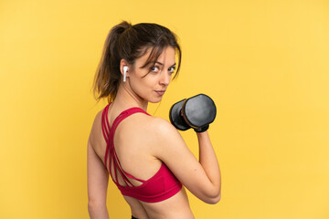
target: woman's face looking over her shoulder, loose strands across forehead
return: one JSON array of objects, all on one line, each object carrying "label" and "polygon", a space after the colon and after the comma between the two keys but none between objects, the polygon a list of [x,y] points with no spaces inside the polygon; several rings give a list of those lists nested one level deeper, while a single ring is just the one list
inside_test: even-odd
[{"label": "woman's face looking over her shoulder, loose strands across forehead", "polygon": [[144,68],[152,49],[135,60],[133,71],[129,73],[130,87],[138,98],[156,103],[164,96],[165,90],[175,72],[175,48],[166,47],[154,63]]}]

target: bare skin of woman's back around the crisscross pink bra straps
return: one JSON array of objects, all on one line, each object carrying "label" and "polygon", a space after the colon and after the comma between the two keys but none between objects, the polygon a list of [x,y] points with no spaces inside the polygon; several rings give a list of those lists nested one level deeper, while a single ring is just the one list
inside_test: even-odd
[{"label": "bare skin of woman's back around the crisscross pink bra straps", "polygon": [[[112,127],[113,122],[121,115],[121,112],[124,111],[115,109],[115,106],[113,106],[113,108],[111,107],[112,106],[109,107],[107,115],[105,115],[104,110],[98,113],[94,121],[95,127],[90,133],[92,147],[103,163],[105,163],[107,142],[102,134],[101,124],[103,122],[104,125],[104,119],[107,119],[110,127]],[[101,115],[105,115],[107,118],[102,118]],[[124,118],[114,132],[114,150],[122,166],[122,170],[143,181],[152,179],[164,165],[163,162],[152,154],[153,148],[157,146],[158,140],[156,138],[150,138],[150,136],[154,136],[150,131],[154,131],[154,129],[158,127],[156,123],[159,123],[159,121],[160,123],[162,122],[159,118],[137,112]],[[109,170],[109,160],[107,161],[106,166]],[[113,166],[114,165],[111,164],[112,176],[115,175]],[[120,185],[127,186],[119,171],[117,171],[117,177]],[[143,184],[132,178],[128,177],[128,179],[129,182],[133,184],[128,186],[139,187]],[[123,197],[131,206],[132,214],[138,218],[194,218],[190,211],[184,188],[179,189],[179,192],[175,193],[171,198],[156,203],[142,202],[125,195]],[[170,209],[170,211],[168,211],[168,209]]]}]

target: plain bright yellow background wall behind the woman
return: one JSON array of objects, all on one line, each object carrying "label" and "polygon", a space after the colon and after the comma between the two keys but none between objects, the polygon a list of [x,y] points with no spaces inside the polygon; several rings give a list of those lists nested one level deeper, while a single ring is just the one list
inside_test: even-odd
[{"label": "plain bright yellow background wall behind the woman", "polygon": [[[196,218],[329,218],[329,2],[0,1],[0,218],[88,218],[90,92],[111,26],[154,22],[183,66],[162,103],[212,97],[222,200]],[[197,156],[196,136],[183,134]],[[129,218],[109,186],[111,218]]]}]

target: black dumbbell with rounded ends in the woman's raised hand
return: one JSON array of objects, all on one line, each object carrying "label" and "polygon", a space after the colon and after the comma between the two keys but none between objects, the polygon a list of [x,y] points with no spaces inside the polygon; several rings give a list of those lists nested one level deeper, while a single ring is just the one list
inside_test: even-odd
[{"label": "black dumbbell with rounded ends in the woman's raised hand", "polygon": [[216,118],[216,105],[205,94],[176,102],[169,112],[169,119],[177,130],[193,128],[196,132],[206,131]]}]

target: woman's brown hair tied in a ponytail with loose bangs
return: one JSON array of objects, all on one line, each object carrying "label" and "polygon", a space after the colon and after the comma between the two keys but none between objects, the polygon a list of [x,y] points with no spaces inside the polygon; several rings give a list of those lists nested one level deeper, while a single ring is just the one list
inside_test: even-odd
[{"label": "woman's brown hair tied in a ponytail with loose bangs", "polygon": [[174,47],[178,53],[176,77],[181,65],[182,52],[173,32],[164,26],[152,23],[132,26],[122,21],[119,25],[113,26],[106,37],[101,62],[94,78],[95,99],[108,97],[109,102],[115,99],[121,83],[120,61],[122,58],[133,66],[136,58],[142,57],[148,48],[152,48],[150,56],[143,65],[145,68],[157,60],[165,47]]}]

